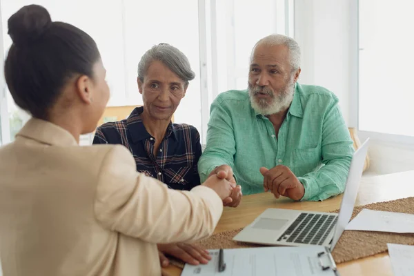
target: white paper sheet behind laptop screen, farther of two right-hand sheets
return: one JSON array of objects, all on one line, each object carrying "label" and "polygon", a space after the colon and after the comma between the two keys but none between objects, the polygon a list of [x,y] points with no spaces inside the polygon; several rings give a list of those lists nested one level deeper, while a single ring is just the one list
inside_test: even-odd
[{"label": "white paper sheet behind laptop screen, farther of two right-hand sheets", "polygon": [[345,229],[414,233],[414,215],[362,209]]}]

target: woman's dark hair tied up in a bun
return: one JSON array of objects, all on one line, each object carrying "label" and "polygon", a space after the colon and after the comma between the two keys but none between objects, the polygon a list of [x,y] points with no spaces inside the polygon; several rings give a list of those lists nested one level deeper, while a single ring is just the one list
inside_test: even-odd
[{"label": "woman's dark hair tied up in a bun", "polygon": [[59,98],[68,79],[87,75],[100,59],[97,44],[86,32],[52,22],[46,8],[24,6],[8,19],[12,46],[4,66],[6,83],[17,106],[39,119]]}]

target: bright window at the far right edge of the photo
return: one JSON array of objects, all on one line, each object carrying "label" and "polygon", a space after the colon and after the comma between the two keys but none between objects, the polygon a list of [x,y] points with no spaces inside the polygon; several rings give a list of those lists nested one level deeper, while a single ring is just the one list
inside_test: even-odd
[{"label": "bright window at the far right edge of the photo", "polygon": [[414,2],[359,0],[359,130],[414,136]]}]

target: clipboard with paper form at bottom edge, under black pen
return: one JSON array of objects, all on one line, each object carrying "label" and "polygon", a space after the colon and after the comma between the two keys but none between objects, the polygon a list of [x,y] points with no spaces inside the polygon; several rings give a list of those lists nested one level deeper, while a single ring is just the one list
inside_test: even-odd
[{"label": "clipboard with paper form at bottom edge, under black pen", "polygon": [[186,264],[181,276],[337,275],[331,253],[324,246],[224,249],[226,269],[222,272],[218,270],[219,250],[209,252],[212,259],[208,264]]}]

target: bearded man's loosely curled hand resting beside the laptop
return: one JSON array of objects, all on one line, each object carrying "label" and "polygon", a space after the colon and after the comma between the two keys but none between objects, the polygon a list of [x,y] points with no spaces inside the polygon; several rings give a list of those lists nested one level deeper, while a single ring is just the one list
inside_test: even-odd
[{"label": "bearded man's loosely curled hand resting beside the laptop", "polygon": [[265,192],[270,190],[278,199],[279,196],[290,197],[293,200],[300,200],[304,197],[305,188],[296,175],[286,166],[278,165],[275,168],[260,168],[264,176],[263,187]]}]

